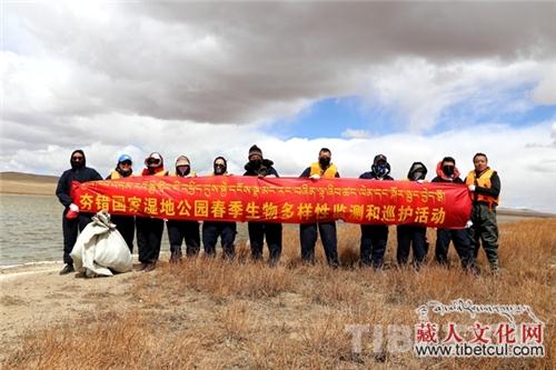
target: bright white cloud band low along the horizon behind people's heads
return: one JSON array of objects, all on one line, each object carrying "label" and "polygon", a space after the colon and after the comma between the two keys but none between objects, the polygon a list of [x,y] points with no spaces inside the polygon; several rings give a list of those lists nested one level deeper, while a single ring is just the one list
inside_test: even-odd
[{"label": "bright white cloud band low along the horizon behind people's heads", "polygon": [[[145,128],[136,129],[138,126]],[[113,140],[100,141],[98,133],[91,132],[91,143],[19,149],[0,157],[0,170],[59,174],[69,167],[72,149],[80,147],[86,151],[89,166],[103,176],[123,152],[133,157],[135,170],[140,171],[142,160],[151,151],[162,153],[167,168],[172,167],[176,157],[186,154],[200,174],[209,173],[214,158],[224,154],[228,158],[230,171],[242,174],[248,149],[257,143],[265,157],[275,161],[281,176],[299,176],[317,160],[319,149],[327,147],[331,149],[332,161],[342,177],[358,177],[368,171],[375,154],[384,153],[396,179],[405,178],[414,161],[423,161],[429,170],[428,179],[431,179],[436,163],[443,157],[456,158],[465,176],[473,168],[473,156],[481,151],[488,154],[490,166],[499,171],[503,206],[556,212],[556,193],[553,191],[556,182],[555,123],[519,129],[485,126],[435,136],[398,133],[369,139],[314,140],[279,140],[252,126],[175,124],[145,118],[128,121],[122,117],[105,117],[96,123],[88,122],[86,127],[109,130]],[[532,142],[537,144],[529,146]]]}]

